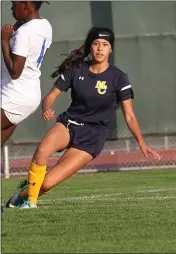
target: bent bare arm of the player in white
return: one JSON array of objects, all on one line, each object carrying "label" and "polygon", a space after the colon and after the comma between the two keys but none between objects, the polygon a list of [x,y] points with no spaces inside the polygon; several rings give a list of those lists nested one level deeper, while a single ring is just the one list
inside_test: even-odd
[{"label": "bent bare arm of the player in white", "polygon": [[18,56],[10,52],[9,39],[13,33],[12,25],[4,25],[1,30],[1,48],[4,62],[12,79],[18,79],[23,71],[26,57]]}]

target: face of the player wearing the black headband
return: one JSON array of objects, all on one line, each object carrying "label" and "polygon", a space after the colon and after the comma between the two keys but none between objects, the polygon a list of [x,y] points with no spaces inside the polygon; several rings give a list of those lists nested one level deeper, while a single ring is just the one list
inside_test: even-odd
[{"label": "face of the player wearing the black headband", "polygon": [[111,44],[104,39],[94,40],[90,48],[92,58],[97,63],[108,61],[111,51]]}]

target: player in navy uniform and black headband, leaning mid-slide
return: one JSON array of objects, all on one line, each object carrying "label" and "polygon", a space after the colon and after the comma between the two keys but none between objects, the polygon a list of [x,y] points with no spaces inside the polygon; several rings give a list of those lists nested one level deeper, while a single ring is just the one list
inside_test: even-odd
[{"label": "player in navy uniform and black headband, leaning mid-slide", "polygon": [[[8,206],[36,207],[39,191],[40,194],[48,192],[95,158],[103,149],[108,124],[119,103],[143,154],[160,160],[142,137],[127,74],[108,61],[113,45],[114,34],[110,29],[92,28],[84,46],[71,52],[53,73],[52,77],[59,75],[59,78],[43,101],[43,118],[54,119],[53,104],[69,88],[72,103],[43,137],[31,162],[27,188],[13,196]],[[63,149],[65,153],[45,175],[49,157]]]}]

